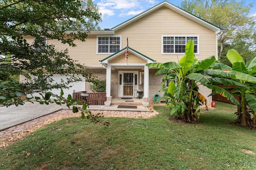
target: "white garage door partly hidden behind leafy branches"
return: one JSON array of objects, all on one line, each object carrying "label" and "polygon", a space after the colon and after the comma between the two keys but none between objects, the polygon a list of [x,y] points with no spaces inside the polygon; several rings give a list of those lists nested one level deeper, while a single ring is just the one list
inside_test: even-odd
[{"label": "white garage door partly hidden behind leafy branches", "polygon": [[[63,92],[64,92],[63,97],[67,98],[68,94],[70,94],[72,96],[73,90],[75,90],[75,92],[84,91],[84,89],[85,89],[85,78],[83,78],[83,76],[78,76],[78,77],[82,78],[83,81],[71,83],[70,86],[72,86],[72,87],[69,88],[69,89],[62,89]],[[61,79],[63,79],[65,81],[67,77],[56,74],[52,78],[56,82],[61,82]],[[53,94],[57,94],[58,96],[60,96],[60,89],[53,89],[53,90],[51,90],[51,92]],[[39,94],[36,94],[36,93],[34,93],[33,96],[34,97],[35,96],[41,97]],[[28,97],[30,97],[30,95],[28,95]]]}]

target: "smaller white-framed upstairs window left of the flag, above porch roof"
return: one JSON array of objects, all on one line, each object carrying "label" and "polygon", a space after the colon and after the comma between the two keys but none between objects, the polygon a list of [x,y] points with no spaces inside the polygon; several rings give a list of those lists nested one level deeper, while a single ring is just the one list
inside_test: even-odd
[{"label": "smaller white-framed upstairs window left of the flag, above porch roof", "polygon": [[97,39],[97,53],[98,54],[109,54],[116,53],[121,50],[121,37],[111,36],[111,37],[100,37]]}]

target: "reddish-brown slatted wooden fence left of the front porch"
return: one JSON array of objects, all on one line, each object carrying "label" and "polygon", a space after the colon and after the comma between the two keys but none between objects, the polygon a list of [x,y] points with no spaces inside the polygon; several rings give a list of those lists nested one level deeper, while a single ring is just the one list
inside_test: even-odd
[{"label": "reddish-brown slatted wooden fence left of the front porch", "polygon": [[72,95],[72,99],[76,99],[81,101],[81,103],[87,102],[89,105],[104,105],[106,102],[106,93],[86,93],[88,96],[81,96],[81,93],[86,92],[74,92]]}]

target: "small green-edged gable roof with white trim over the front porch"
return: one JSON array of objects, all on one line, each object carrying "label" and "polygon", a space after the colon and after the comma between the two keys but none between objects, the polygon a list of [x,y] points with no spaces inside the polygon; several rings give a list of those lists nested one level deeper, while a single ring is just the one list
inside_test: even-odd
[{"label": "small green-edged gable roof with white trim over the front porch", "polygon": [[[108,63],[108,61],[114,59],[115,57],[119,56],[122,53],[125,53],[126,49],[127,49],[127,47],[125,47],[125,48],[121,49],[120,51],[118,51],[118,52],[116,52],[116,53],[106,57],[105,59],[100,60],[100,63]],[[128,47],[128,50],[129,50],[129,53],[132,53],[132,54],[136,55],[137,57],[140,57],[141,59],[147,61],[147,63],[149,63],[149,62],[156,62],[155,60],[147,57],[146,55],[143,55],[142,53],[140,53],[140,52],[138,52],[138,51],[136,51],[136,50],[134,50],[134,49],[132,49],[130,47]]]}]

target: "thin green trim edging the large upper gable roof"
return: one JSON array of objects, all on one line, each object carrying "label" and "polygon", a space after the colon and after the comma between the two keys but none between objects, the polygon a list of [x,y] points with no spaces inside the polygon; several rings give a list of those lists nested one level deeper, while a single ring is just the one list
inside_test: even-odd
[{"label": "thin green trim edging the large upper gable roof", "polygon": [[142,15],[142,14],[144,14],[144,13],[150,11],[150,10],[152,10],[153,8],[156,8],[156,6],[159,6],[159,5],[163,4],[164,2],[170,4],[170,5],[172,5],[172,6],[176,7],[176,8],[178,8],[179,10],[182,10],[182,11],[184,11],[184,12],[190,14],[191,16],[194,16],[194,17],[198,18],[199,20],[202,20],[202,21],[204,21],[204,22],[206,22],[206,23],[208,23],[208,24],[210,24],[210,25],[212,25],[212,26],[214,26],[214,27],[216,27],[216,28],[218,28],[218,29],[220,29],[220,30],[226,30],[226,29],[222,29],[221,27],[218,27],[217,25],[214,25],[213,23],[210,23],[209,21],[206,21],[206,20],[204,20],[204,19],[202,19],[202,18],[200,18],[200,17],[198,17],[198,16],[196,16],[196,15],[194,15],[194,14],[192,14],[192,13],[190,13],[190,12],[188,12],[188,11],[186,11],[186,10],[184,10],[184,9],[182,9],[182,8],[176,6],[176,5],[174,5],[174,4],[172,4],[172,3],[168,2],[168,1],[166,1],[166,0],[164,0],[163,2],[160,2],[159,4],[153,6],[152,8],[149,8],[148,10],[146,10],[146,11],[144,11],[144,12],[142,12],[142,13],[140,13],[140,14],[138,14],[138,15],[132,17],[132,18],[130,18],[129,20],[126,20],[126,21],[124,21],[124,22],[122,22],[122,23],[116,25],[115,27],[112,27],[111,30],[114,30],[116,27],[118,27],[118,26],[120,26],[120,25],[122,25],[122,24],[124,24],[124,23],[126,23],[126,22],[128,22],[128,21],[130,21],[130,20],[132,20],[132,19],[134,19],[134,18],[136,18],[136,17],[138,17],[138,16],[140,16],[140,15]]}]

